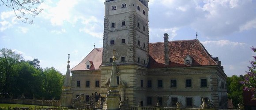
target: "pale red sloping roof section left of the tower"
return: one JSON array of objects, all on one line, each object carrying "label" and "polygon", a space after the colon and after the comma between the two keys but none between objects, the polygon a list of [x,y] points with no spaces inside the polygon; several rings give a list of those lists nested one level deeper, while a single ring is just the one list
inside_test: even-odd
[{"label": "pale red sloping roof section left of the tower", "polygon": [[[94,48],[77,66],[70,71],[79,70],[100,70],[99,66],[102,64],[102,50],[103,48]],[[86,68],[86,62],[89,61],[92,66],[89,69]]]}]

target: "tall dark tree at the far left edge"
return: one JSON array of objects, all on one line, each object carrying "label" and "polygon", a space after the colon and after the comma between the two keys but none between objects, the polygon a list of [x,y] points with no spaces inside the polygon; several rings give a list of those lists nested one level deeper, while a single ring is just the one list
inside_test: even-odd
[{"label": "tall dark tree at the far left edge", "polygon": [[0,66],[1,66],[1,93],[4,93],[4,97],[8,97],[11,93],[11,80],[12,80],[12,67],[19,60],[23,59],[20,54],[15,54],[11,49],[0,49]]}]

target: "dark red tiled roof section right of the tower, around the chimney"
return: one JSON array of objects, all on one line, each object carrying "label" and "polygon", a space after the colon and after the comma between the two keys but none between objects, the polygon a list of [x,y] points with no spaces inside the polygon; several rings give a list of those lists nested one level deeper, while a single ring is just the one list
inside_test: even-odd
[{"label": "dark red tiled roof section right of the tower, around the chimney", "polygon": [[[165,66],[164,43],[149,44],[149,68],[218,65],[199,40],[169,41],[169,66]],[[191,65],[184,65],[184,58],[192,57]]]}]

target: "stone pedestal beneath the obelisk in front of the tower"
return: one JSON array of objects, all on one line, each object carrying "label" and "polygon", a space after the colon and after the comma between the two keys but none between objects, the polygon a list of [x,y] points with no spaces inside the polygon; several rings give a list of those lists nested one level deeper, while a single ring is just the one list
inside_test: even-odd
[{"label": "stone pedestal beneath the obelisk in front of the tower", "polygon": [[119,102],[120,102],[120,95],[117,90],[109,91],[107,94],[107,110],[120,110],[119,109]]}]

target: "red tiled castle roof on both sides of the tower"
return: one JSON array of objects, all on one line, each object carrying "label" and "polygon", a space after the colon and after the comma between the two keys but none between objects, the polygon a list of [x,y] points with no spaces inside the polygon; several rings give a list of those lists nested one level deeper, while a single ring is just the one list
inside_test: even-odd
[{"label": "red tiled castle roof on both sides of the tower", "polygon": [[[93,49],[82,62],[70,71],[100,70],[102,49],[103,48]],[[164,51],[163,42],[149,44],[149,68],[218,65],[199,40],[169,41],[169,66],[165,66]],[[192,65],[184,65],[184,58],[187,55],[192,57]],[[86,69],[85,63],[87,61],[92,61],[93,64],[89,69]]]}]

